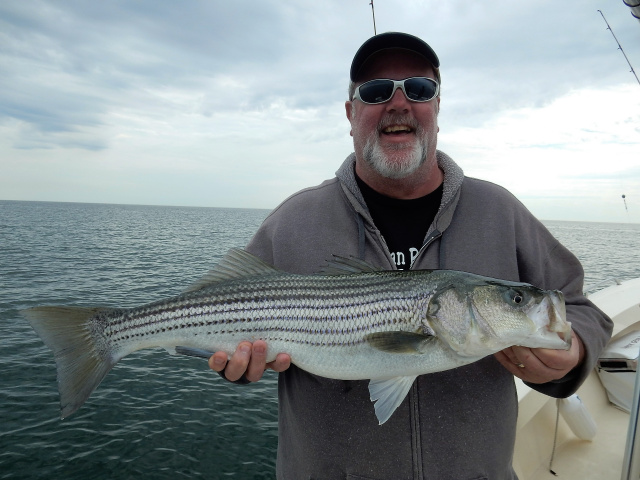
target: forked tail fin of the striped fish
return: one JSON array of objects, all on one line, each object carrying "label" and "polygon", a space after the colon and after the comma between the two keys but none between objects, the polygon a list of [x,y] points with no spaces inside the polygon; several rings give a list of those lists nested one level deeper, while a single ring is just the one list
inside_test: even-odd
[{"label": "forked tail fin of the striped fish", "polygon": [[56,361],[60,416],[78,410],[119,358],[99,348],[90,319],[105,308],[35,307],[21,310]]}]

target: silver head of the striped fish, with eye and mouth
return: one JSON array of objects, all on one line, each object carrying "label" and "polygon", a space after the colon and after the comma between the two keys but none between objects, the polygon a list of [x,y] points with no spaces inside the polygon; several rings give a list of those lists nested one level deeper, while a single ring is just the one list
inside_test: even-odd
[{"label": "silver head of the striped fish, with eye and mouth", "polygon": [[571,346],[562,292],[526,283],[477,276],[450,282],[432,296],[427,323],[461,356],[486,356],[513,345]]}]

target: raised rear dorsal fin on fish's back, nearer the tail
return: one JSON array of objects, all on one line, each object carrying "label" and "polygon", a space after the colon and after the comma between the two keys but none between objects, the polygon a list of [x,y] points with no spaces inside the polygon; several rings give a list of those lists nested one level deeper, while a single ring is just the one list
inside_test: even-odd
[{"label": "raised rear dorsal fin on fish's back, nearer the tail", "polygon": [[279,271],[280,270],[277,268],[260,260],[249,252],[240,248],[232,248],[211,271],[187,288],[185,292],[194,292],[211,284],[224,282],[226,280],[235,280],[249,276],[270,275]]}]

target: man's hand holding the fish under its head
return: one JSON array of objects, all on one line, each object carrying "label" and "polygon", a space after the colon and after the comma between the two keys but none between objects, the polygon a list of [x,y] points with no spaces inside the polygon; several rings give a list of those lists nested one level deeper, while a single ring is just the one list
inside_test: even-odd
[{"label": "man's hand holding the fish under its head", "polygon": [[584,346],[571,332],[569,350],[513,346],[495,354],[496,359],[512,374],[531,383],[558,380],[582,363]]}]

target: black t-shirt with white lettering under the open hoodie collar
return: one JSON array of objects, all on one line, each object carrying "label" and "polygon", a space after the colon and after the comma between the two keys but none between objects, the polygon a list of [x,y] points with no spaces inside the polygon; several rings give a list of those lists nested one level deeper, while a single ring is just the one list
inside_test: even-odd
[{"label": "black t-shirt with white lettering under the open hoodie collar", "polygon": [[400,200],[376,192],[357,175],[356,180],[396,267],[408,270],[422,247],[429,225],[438,213],[442,185],[424,197]]}]

